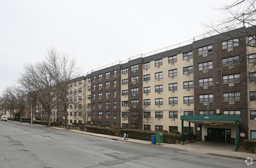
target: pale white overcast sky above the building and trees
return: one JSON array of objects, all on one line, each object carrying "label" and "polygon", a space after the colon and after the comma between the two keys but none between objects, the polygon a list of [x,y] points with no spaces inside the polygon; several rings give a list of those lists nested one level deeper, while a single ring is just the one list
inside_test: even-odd
[{"label": "pale white overcast sky above the building and trees", "polygon": [[228,0],[0,0],[0,94],[49,47],[83,72],[204,33]]}]

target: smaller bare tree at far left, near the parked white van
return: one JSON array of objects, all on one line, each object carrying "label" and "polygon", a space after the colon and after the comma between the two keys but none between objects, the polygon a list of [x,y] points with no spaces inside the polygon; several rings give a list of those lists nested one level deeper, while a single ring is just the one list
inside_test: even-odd
[{"label": "smaller bare tree at far left, near the parked white van", "polygon": [[15,103],[14,105],[11,105],[11,104],[9,105],[13,106],[13,108],[16,108],[16,110],[20,112],[20,123],[21,123],[22,115],[27,105],[27,96],[24,90],[22,90],[17,85],[12,85],[11,87],[7,87],[4,90],[4,95],[6,95],[6,98],[8,98],[8,101],[12,101],[11,103]]}]

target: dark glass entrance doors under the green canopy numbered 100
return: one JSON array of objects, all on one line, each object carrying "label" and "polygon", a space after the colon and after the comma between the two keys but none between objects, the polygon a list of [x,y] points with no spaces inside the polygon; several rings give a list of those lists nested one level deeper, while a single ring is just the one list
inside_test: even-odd
[{"label": "dark glass entrance doors under the green canopy numbered 100", "polygon": [[231,130],[225,128],[207,128],[209,141],[231,143]]}]

